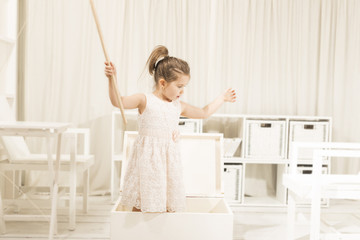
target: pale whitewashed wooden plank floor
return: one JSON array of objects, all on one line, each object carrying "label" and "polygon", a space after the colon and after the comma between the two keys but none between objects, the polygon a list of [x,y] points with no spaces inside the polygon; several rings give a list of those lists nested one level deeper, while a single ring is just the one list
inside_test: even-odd
[{"label": "pale whitewashed wooden plank floor", "polygon": [[[80,198],[79,209],[80,206]],[[88,214],[80,210],[77,215],[77,228],[67,229],[67,212],[59,210],[58,235],[55,239],[110,239],[110,211],[113,203],[109,196],[92,196]],[[285,239],[286,208],[284,207],[233,207],[234,240],[267,240]],[[32,210],[22,209],[21,212]],[[46,213],[48,209],[43,209]],[[297,218],[296,235],[298,240],[308,239],[309,209],[302,209]],[[333,201],[329,208],[322,209],[322,224],[336,227],[345,232],[360,232],[360,202]],[[47,222],[7,222],[7,233],[0,239],[29,240],[47,239],[49,225]]]}]

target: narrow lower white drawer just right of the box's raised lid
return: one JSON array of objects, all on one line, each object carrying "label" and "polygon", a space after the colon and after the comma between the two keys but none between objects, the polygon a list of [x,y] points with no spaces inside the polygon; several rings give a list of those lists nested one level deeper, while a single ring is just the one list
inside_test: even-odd
[{"label": "narrow lower white drawer just right of the box's raised lid", "polygon": [[229,203],[242,202],[242,164],[224,163],[224,197]]}]

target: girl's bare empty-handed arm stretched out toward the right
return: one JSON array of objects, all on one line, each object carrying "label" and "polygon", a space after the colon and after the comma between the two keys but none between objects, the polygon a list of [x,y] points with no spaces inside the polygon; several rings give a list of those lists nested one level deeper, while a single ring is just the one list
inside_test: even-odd
[{"label": "girl's bare empty-handed arm stretched out toward the right", "polygon": [[218,110],[224,102],[235,102],[235,90],[229,88],[223,94],[219,95],[212,103],[203,108],[191,106],[181,102],[181,115],[188,118],[208,118]]}]

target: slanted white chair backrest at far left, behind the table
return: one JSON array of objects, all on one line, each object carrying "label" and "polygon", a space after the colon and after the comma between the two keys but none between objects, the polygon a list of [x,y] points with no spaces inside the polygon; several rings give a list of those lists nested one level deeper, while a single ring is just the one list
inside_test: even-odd
[{"label": "slanted white chair backrest at far left, behind the table", "polygon": [[[8,100],[3,95],[0,95],[0,121],[15,121],[14,116],[11,114]],[[5,154],[9,161],[21,159],[30,155],[24,137],[1,136],[1,140],[3,151],[0,152],[0,160],[5,159]]]}]

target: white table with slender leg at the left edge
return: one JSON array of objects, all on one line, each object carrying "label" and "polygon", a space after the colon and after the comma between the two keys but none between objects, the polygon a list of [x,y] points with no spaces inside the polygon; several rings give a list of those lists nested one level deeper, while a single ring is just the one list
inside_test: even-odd
[{"label": "white table with slender leg at the left edge", "polygon": [[[51,188],[51,215],[49,239],[53,239],[57,233],[57,198],[58,198],[58,177],[60,169],[61,137],[62,133],[70,126],[69,123],[56,122],[1,122],[0,135],[2,136],[31,136],[45,137],[47,143],[48,166],[50,172]],[[52,157],[51,139],[54,139],[56,147],[55,165]],[[1,199],[0,199],[1,201]],[[1,203],[1,202],[0,202]],[[2,210],[2,209],[1,209]],[[2,212],[0,212],[2,214]],[[1,227],[1,226],[0,226]]]}]

